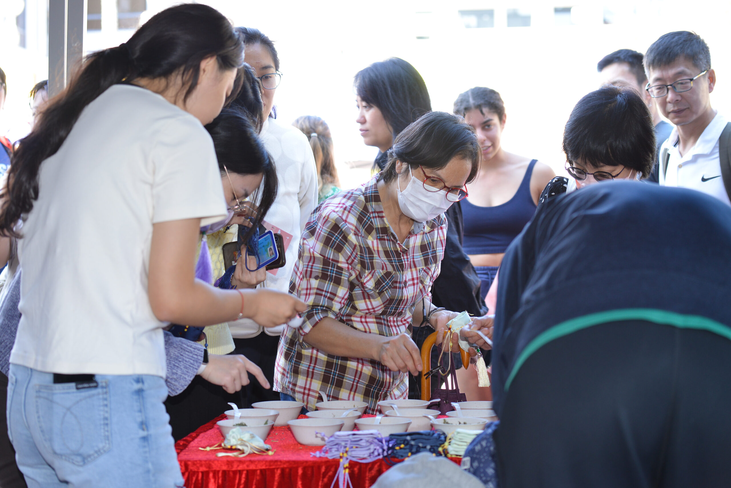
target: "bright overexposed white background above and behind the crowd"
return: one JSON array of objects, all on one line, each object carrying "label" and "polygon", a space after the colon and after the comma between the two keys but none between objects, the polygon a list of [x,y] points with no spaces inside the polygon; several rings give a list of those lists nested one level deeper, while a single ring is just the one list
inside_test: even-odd
[{"label": "bright overexposed white background above and behind the crowd", "polygon": [[[126,41],[140,22],[170,0],[88,0],[84,51]],[[509,118],[507,151],[530,154],[564,175],[561,134],[577,100],[602,80],[596,63],[629,48],[644,53],[660,35],[696,31],[713,53],[719,83],[714,105],[731,102],[724,73],[728,2],[699,9],[681,0],[323,0],[272,3],[208,0],[235,25],[256,26],[276,43],[281,60],[277,118],[291,124],[319,116],[330,127],[341,187],[368,179],[378,149],[363,145],[355,119],[353,76],[396,56],[423,76],[433,110],[452,111],[473,86],[499,91]],[[286,13],[287,15],[280,15]],[[48,9],[39,0],[0,0],[0,67],[7,100],[0,135],[29,132],[29,91],[48,78]]]}]

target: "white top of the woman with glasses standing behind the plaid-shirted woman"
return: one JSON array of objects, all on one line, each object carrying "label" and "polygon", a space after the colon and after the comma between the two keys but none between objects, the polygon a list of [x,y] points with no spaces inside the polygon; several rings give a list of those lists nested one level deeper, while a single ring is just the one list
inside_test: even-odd
[{"label": "white top of the woman with glasses standing behind the plaid-shirted woman", "polygon": [[[300,236],[317,206],[317,168],[310,143],[300,129],[267,119],[260,137],[274,158],[279,181],[276,200],[265,220],[292,234],[292,241],[285,252],[287,264],[276,275],[267,272],[266,282],[259,286],[287,292],[299,255]],[[231,335],[237,339],[256,337],[262,331],[259,324],[246,318],[228,325]],[[270,336],[279,336],[283,329],[284,326],[279,326],[263,330]]]}]

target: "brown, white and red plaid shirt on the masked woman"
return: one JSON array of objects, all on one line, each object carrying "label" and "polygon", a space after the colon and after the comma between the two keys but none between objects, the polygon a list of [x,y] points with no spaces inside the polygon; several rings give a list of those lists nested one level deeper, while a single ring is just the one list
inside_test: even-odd
[{"label": "brown, white and red plaid shirt on the masked woman", "polygon": [[407,373],[379,361],[333,356],[307,344],[325,317],[368,334],[392,337],[412,323],[414,306],[431,298],[444,255],[447,219],[416,223],[404,244],[386,222],[376,187],[367,184],[328,198],[315,209],[300,241],[289,291],[306,304],[299,329],[287,328],[276,359],[274,389],[314,410],[320,390],[327,399],[368,402],[406,398]]}]

